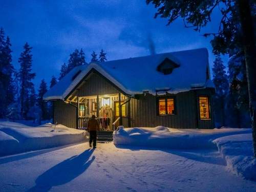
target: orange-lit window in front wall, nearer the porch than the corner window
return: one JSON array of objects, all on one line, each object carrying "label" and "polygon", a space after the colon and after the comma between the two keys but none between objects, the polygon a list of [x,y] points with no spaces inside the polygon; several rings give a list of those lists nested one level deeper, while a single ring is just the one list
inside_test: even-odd
[{"label": "orange-lit window in front wall, nearer the porch than the corner window", "polygon": [[174,110],[174,98],[163,98],[158,100],[159,115],[172,115]]}]

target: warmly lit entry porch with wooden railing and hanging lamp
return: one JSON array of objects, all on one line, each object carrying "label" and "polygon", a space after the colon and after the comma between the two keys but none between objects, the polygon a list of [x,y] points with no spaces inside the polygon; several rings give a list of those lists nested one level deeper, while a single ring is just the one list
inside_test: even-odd
[{"label": "warmly lit entry porch with wooden railing and hanging lamp", "polygon": [[72,96],[69,103],[76,105],[77,129],[87,129],[92,115],[100,124],[100,131],[115,131],[119,125],[131,126],[130,97],[122,93]]}]

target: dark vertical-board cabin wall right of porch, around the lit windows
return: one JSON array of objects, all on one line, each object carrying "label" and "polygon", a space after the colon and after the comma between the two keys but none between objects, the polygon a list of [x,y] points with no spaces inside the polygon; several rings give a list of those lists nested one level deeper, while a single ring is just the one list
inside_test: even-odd
[{"label": "dark vertical-board cabin wall right of porch, around the lit windows", "polygon": [[[208,92],[202,92],[205,95]],[[198,95],[196,91],[182,92],[174,95],[176,101],[175,115],[157,115],[157,97],[151,94],[141,95],[139,99],[131,99],[131,123],[132,126],[158,126],[180,129],[212,129],[214,128],[213,118],[211,120],[198,119]],[[212,114],[212,110],[211,110]]]}]

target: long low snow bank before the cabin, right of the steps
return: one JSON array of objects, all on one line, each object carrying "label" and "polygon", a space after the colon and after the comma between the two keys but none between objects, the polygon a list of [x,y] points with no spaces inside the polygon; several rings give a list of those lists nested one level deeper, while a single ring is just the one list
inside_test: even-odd
[{"label": "long low snow bank before the cabin, right of the steps", "polygon": [[216,148],[212,140],[233,134],[251,133],[251,129],[172,129],[163,126],[132,127],[113,133],[115,145],[135,145],[174,149]]}]

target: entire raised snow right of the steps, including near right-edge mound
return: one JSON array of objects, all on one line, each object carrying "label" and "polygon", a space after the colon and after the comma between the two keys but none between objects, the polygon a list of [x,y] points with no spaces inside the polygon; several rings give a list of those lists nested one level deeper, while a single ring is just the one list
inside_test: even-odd
[{"label": "entire raised snow right of the steps, including near right-edge mound", "polygon": [[256,181],[256,159],[252,153],[251,129],[188,130],[163,126],[123,129],[120,126],[114,132],[114,143],[117,146],[133,145],[175,150],[218,147],[231,172]]}]

